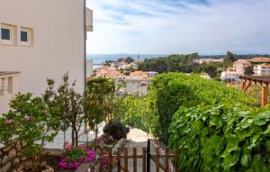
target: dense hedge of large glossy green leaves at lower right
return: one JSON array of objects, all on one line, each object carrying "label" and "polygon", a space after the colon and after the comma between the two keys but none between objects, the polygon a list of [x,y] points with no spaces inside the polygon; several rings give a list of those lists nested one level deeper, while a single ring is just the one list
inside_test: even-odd
[{"label": "dense hedge of large glossy green leaves at lower right", "polygon": [[270,171],[269,107],[182,107],[169,131],[183,171]]}]

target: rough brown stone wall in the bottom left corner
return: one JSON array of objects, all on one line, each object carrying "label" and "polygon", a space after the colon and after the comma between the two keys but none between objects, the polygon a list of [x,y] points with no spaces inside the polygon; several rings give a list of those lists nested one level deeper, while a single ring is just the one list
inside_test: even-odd
[{"label": "rough brown stone wall in the bottom left corner", "polygon": [[23,158],[23,148],[25,146],[24,141],[16,140],[13,144],[0,149],[0,172],[12,171],[25,160]]}]

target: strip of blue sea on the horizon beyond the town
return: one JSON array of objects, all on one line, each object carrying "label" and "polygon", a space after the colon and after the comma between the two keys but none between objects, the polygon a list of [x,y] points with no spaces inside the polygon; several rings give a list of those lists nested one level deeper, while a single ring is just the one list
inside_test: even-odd
[{"label": "strip of blue sea on the horizon beyond the town", "polygon": [[[166,55],[163,54],[139,54],[139,59],[150,59],[150,58],[158,58],[164,57]],[[100,67],[105,60],[116,60],[121,58],[132,58],[137,59],[138,54],[87,54],[86,59],[93,59],[93,68]]]}]

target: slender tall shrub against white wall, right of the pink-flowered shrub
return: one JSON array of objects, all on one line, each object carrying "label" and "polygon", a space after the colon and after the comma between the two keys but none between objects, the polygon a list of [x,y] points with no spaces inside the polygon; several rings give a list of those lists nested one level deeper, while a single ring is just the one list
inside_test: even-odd
[{"label": "slender tall shrub against white wall, right of the pink-flowered shrub", "polygon": [[61,130],[71,128],[72,145],[78,143],[78,131],[85,120],[85,96],[76,93],[76,82],[69,85],[69,76],[65,74],[58,89],[54,89],[54,80],[48,79],[48,88],[43,96],[47,104],[50,104],[52,111],[58,110],[61,119]]}]

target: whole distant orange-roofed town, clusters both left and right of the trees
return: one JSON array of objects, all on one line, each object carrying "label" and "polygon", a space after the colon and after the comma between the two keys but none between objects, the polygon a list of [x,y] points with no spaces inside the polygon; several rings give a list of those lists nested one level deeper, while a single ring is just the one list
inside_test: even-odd
[{"label": "whole distant orange-roofed town, clusters both left and right of the trees", "polygon": [[[116,86],[116,95],[147,95],[148,85],[151,84],[151,78],[158,75],[157,71],[142,71],[139,69],[139,63],[143,60],[121,58],[116,61],[107,60],[102,67],[96,68],[88,79],[93,77],[112,78]],[[193,59],[194,65],[207,64],[225,64],[224,59]],[[92,61],[93,65],[93,61]],[[217,68],[220,71],[218,78],[224,82],[240,82],[239,77],[244,75],[267,76],[270,75],[270,58],[256,57],[252,59],[236,59],[231,62],[227,68]],[[212,78],[207,72],[201,72],[201,77]]]}]

